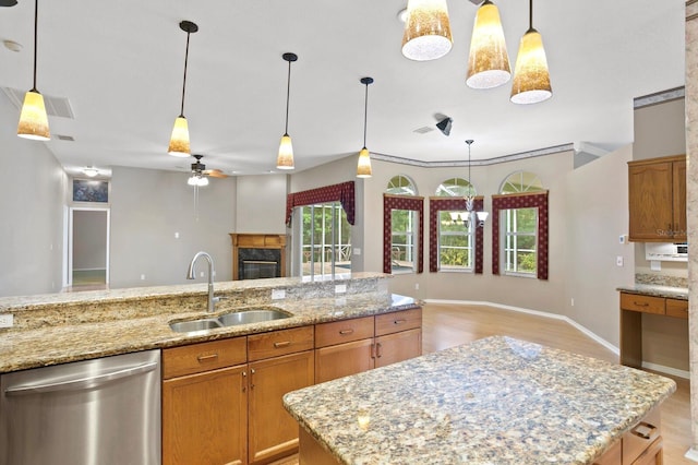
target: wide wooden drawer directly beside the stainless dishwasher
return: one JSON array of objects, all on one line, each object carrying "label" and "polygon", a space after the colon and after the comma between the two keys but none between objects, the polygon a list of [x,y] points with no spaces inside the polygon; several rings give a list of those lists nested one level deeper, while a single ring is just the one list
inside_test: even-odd
[{"label": "wide wooden drawer directly beside the stainless dishwasher", "polygon": [[248,361],[246,338],[213,341],[163,350],[163,378],[201,373]]}]

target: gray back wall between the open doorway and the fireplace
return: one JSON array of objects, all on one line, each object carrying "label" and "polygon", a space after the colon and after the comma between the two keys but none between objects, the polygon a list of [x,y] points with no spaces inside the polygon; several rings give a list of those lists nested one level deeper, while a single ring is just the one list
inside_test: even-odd
[{"label": "gray back wall between the open doorway and the fireplace", "polygon": [[186,178],[183,172],[113,168],[112,288],[188,283],[189,262],[200,250],[213,257],[216,281],[232,278],[236,178],[212,179],[200,188],[197,207]]}]

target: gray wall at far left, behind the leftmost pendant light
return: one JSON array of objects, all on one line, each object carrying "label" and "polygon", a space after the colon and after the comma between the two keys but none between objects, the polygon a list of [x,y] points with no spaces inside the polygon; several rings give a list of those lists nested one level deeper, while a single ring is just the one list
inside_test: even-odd
[{"label": "gray wall at far left, behind the leftmost pendant light", "polygon": [[0,93],[0,296],[61,289],[67,177],[46,144],[16,135]]}]

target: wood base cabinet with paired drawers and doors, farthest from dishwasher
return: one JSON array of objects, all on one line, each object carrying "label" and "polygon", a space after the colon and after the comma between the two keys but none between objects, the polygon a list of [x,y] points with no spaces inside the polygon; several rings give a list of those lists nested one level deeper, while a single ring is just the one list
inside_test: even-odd
[{"label": "wood base cabinet with paired drawers and doors, farthest from dishwasher", "polygon": [[315,382],[422,355],[422,310],[315,325]]}]

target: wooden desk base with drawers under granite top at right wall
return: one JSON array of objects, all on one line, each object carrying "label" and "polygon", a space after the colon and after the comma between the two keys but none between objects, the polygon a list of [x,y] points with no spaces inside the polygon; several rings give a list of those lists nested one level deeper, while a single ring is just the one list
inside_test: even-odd
[{"label": "wooden desk base with drawers under granite top at right wall", "polygon": [[621,293],[621,363],[642,367],[642,313],[688,319],[688,300]]}]

